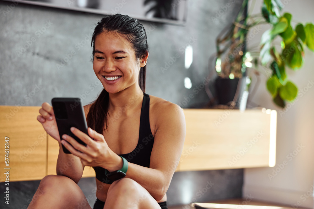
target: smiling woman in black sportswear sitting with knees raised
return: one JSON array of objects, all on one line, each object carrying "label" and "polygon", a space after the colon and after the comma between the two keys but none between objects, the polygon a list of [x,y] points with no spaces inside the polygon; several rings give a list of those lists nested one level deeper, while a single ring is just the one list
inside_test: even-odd
[{"label": "smiling woman in black sportswear sitting with knees raised", "polygon": [[[185,138],[183,111],[144,93],[149,52],[138,20],[104,17],[92,46],[94,72],[104,89],[84,106],[89,136],[71,129],[87,146],[68,135],[60,139],[52,107],[42,104],[37,120],[60,145],[57,175],[41,180],[29,208],[90,208],[77,185],[84,166],[96,172],[95,209],[167,208],[166,191]],[[62,144],[72,154],[65,154]],[[69,161],[72,165],[62,170]]]}]

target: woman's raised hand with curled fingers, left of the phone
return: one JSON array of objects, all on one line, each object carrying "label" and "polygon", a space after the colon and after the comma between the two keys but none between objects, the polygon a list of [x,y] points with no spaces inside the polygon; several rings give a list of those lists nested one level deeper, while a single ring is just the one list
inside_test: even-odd
[{"label": "woman's raised hand with curled fingers, left of the phone", "polygon": [[58,142],[61,142],[56,117],[53,112],[52,106],[49,103],[44,102],[42,103],[41,107],[42,108],[39,109],[39,113],[41,115],[37,116],[37,120],[41,123],[45,131],[52,138],[55,138]]}]

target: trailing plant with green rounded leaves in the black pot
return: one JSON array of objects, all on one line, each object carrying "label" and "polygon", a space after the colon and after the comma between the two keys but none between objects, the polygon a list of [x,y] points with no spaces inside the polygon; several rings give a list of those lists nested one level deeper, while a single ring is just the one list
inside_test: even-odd
[{"label": "trailing plant with green rounded leaves in the black pot", "polygon": [[[241,91],[245,91],[250,84],[250,80],[245,77],[246,67],[252,67],[253,64],[256,70],[267,67],[270,72],[267,75],[267,89],[273,102],[284,108],[285,103],[293,101],[298,93],[297,86],[288,80],[286,69],[289,67],[297,70],[302,66],[305,46],[314,51],[314,25],[298,23],[292,28],[292,15],[280,14],[283,8],[280,0],[264,0],[259,14],[247,13],[248,2],[249,0],[243,1],[236,20],[219,34],[216,41],[216,88],[221,82],[229,80],[234,83],[231,91],[235,96],[235,86],[242,86],[244,90]],[[257,52],[246,50],[246,35],[259,24],[268,24],[270,29],[263,33]],[[281,39],[281,48],[273,43],[277,37]],[[237,80],[240,81],[241,78],[245,79],[239,85]],[[238,100],[239,98],[241,94],[238,94]]]}]

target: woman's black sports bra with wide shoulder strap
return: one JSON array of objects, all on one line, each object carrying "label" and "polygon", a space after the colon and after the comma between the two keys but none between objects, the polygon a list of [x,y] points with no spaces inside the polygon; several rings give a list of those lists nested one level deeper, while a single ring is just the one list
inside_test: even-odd
[{"label": "woman's black sports bra with wide shoulder strap", "polygon": [[[139,123],[139,136],[136,148],[127,154],[119,154],[128,162],[141,165],[149,168],[150,154],[153,149],[154,136],[150,130],[149,124],[149,95],[144,93],[143,103],[141,108],[141,118]],[[111,184],[113,181],[105,175],[103,167],[93,167],[96,172],[96,179],[106,184]]]}]

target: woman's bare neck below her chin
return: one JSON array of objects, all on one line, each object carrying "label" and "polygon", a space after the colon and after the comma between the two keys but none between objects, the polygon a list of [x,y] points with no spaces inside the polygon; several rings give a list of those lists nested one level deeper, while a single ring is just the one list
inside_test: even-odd
[{"label": "woman's bare neck below her chin", "polygon": [[133,112],[143,101],[143,91],[137,85],[133,85],[117,93],[109,93],[108,112],[121,111],[123,114]]}]

